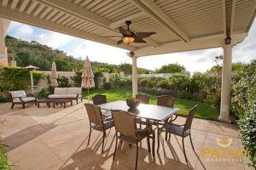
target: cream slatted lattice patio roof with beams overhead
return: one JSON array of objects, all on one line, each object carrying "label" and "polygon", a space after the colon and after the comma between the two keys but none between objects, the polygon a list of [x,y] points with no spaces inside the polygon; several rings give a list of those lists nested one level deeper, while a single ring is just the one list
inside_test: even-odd
[{"label": "cream slatted lattice patio roof with beams overhead", "polygon": [[[0,16],[94,42],[166,54],[241,42],[255,18],[256,0],[0,0]],[[147,43],[117,45],[118,27],[155,31]]]}]

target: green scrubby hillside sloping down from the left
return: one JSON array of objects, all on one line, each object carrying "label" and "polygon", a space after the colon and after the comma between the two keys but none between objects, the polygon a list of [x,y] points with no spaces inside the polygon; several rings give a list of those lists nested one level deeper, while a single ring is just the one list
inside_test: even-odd
[{"label": "green scrubby hillside sloping down from the left", "polygon": [[[84,61],[75,59],[61,50],[50,48],[38,42],[26,42],[9,35],[5,38],[8,48],[9,60],[14,58],[18,66],[35,65],[43,71],[50,71],[51,63],[54,60],[58,71],[81,71]],[[107,63],[91,62],[94,71],[119,72],[131,74],[130,64],[109,65]],[[143,68],[138,69],[139,73],[148,73]]]}]

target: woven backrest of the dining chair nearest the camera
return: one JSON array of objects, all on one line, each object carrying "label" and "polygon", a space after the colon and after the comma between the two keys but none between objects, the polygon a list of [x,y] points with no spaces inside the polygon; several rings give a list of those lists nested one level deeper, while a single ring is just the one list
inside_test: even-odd
[{"label": "woven backrest of the dining chair nearest the camera", "polygon": [[113,110],[111,112],[115,130],[119,133],[136,138],[136,116],[120,110]]}]

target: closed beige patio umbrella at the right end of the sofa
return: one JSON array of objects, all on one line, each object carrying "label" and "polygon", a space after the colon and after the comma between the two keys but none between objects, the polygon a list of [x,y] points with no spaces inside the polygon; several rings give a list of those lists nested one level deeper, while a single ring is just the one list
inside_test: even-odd
[{"label": "closed beige patio umbrella at the right end of the sofa", "polygon": [[87,88],[87,93],[88,93],[88,103],[89,103],[89,89],[95,87],[94,83],[94,75],[91,70],[91,65],[90,65],[90,60],[88,56],[86,56],[86,59],[84,60],[84,70],[82,73],[82,82],[81,82],[81,87],[82,88]]}]

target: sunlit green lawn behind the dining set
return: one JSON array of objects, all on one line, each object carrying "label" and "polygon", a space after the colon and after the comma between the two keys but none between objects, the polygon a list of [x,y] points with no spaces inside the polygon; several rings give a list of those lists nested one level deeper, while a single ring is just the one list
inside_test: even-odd
[{"label": "sunlit green lawn behind the dining set", "polygon": [[[131,98],[131,90],[126,89],[93,89],[90,90],[90,99],[92,96],[96,94],[104,94],[107,95],[108,102],[116,101],[116,100],[125,100]],[[149,103],[152,105],[156,105],[156,96],[149,94],[150,100]],[[83,92],[83,97],[87,99],[87,90]],[[198,110],[195,113],[195,117],[204,118],[204,119],[211,119],[211,120],[218,120],[218,111],[213,109],[211,106],[189,100],[189,99],[176,99],[174,107],[180,108],[179,114],[186,115],[190,108],[194,105],[198,105]]]}]

